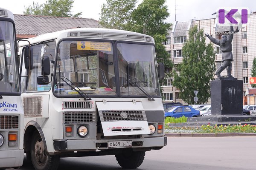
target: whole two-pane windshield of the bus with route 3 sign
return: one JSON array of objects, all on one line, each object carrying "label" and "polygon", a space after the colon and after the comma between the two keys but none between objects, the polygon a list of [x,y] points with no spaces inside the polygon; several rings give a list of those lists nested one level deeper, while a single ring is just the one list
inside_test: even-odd
[{"label": "whole two-pane windshield of the bus with route 3 sign", "polygon": [[56,95],[77,96],[81,90],[88,96],[114,96],[117,88],[122,96],[160,95],[154,45],[117,43],[118,73],[111,42],[64,40],[57,50]]}]

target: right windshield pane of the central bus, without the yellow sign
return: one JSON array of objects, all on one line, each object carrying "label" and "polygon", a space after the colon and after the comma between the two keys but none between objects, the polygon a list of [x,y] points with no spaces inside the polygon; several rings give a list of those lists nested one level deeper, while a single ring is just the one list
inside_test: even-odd
[{"label": "right windshield pane of the central bus, without the yellow sign", "polygon": [[121,95],[160,95],[154,45],[118,43],[117,55]]}]

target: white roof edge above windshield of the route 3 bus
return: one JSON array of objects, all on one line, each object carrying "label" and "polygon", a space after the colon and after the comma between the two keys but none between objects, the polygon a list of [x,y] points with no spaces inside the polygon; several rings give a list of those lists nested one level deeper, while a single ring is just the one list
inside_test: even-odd
[{"label": "white roof edge above windshield of the route 3 bus", "polygon": [[[73,33],[73,34],[70,34]],[[47,34],[41,34],[37,37],[26,39],[31,44],[54,40],[63,39],[67,37],[74,38],[89,38],[89,39],[108,39],[108,40],[130,40],[130,41],[140,41],[140,42],[152,42],[154,39],[151,36],[140,34],[131,31],[107,29],[107,28],[73,28],[62,31],[56,31]],[[20,42],[22,45],[27,45],[27,42]],[[22,46],[20,45],[20,46]]]}]

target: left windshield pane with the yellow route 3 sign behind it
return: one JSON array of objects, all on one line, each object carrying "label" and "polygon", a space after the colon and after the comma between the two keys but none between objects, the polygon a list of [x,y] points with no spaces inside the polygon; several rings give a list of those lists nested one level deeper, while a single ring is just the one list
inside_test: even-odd
[{"label": "left windshield pane with the yellow route 3 sign behind it", "polygon": [[57,95],[79,95],[70,85],[89,96],[115,95],[112,43],[62,41],[58,46],[55,77]]}]

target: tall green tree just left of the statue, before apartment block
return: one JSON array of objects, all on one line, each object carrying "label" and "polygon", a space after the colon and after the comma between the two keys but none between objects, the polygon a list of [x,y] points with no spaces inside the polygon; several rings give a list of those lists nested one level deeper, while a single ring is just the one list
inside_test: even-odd
[{"label": "tall green tree just left of the statue, before apartment block", "polygon": [[210,80],[215,71],[215,53],[211,43],[205,44],[204,31],[194,26],[189,30],[189,39],[182,48],[182,62],[174,71],[173,85],[180,90],[180,98],[194,103],[194,91],[198,92],[198,104],[210,98]]}]

